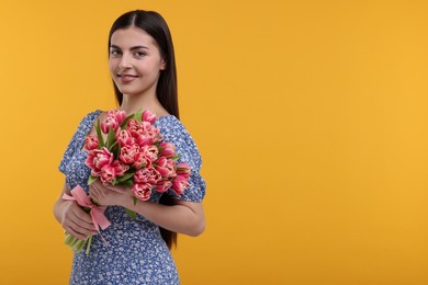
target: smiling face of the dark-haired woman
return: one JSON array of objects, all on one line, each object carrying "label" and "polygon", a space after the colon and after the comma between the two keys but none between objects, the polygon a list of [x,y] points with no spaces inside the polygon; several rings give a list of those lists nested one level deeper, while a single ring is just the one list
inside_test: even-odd
[{"label": "smiling face of the dark-haired woman", "polygon": [[119,90],[124,95],[156,94],[160,70],[166,67],[156,41],[131,26],[116,30],[110,42],[110,72]]}]

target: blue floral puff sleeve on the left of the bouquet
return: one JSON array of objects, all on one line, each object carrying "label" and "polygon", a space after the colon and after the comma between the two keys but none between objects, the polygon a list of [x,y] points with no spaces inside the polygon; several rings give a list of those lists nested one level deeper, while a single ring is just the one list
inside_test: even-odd
[{"label": "blue floral puff sleeve on the left of the bouquet", "polygon": [[66,168],[75,152],[81,147],[81,138],[86,137],[86,133],[88,132],[88,123],[93,121],[94,116],[98,116],[99,111],[89,113],[86,115],[79,123],[79,126],[77,127],[77,130],[71,137],[70,142],[68,144],[66,151],[64,152],[63,159],[59,162],[59,171],[66,174]]}]

